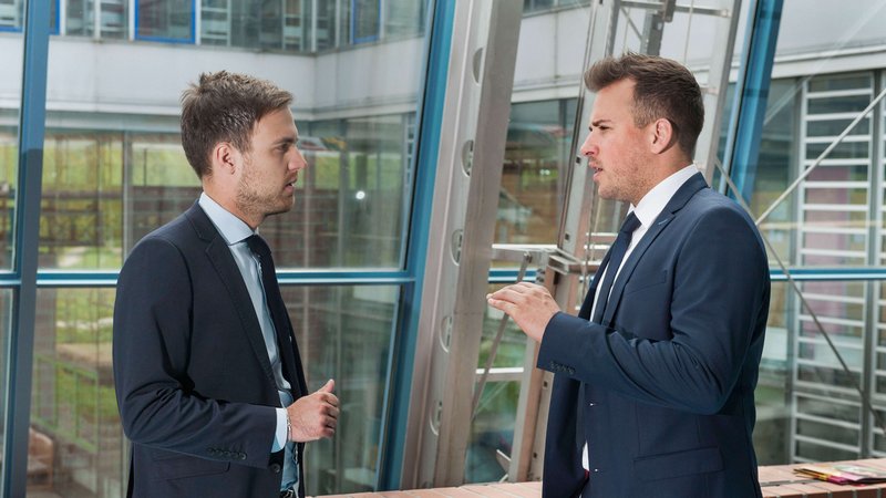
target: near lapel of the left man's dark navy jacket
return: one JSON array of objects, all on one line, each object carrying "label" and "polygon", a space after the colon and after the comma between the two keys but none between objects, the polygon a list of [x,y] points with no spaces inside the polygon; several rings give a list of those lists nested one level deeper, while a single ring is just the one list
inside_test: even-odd
[{"label": "near lapel of the left man's dark navy jacket", "polygon": [[253,300],[249,298],[246,283],[243,281],[243,274],[240,274],[240,270],[230,255],[230,249],[228,249],[225,239],[218,234],[215,225],[213,225],[198,204],[195,203],[190,209],[185,211],[185,216],[187,216],[200,240],[206,242],[206,257],[209,258],[219,279],[225,284],[231,305],[240,319],[240,330],[246,334],[249,345],[261,365],[261,370],[268,376],[269,382],[272,385],[277,385],[277,381],[274,378],[274,371],[270,367],[268,350],[265,346],[265,339],[261,335],[261,326],[258,324],[258,318],[253,308]]}]

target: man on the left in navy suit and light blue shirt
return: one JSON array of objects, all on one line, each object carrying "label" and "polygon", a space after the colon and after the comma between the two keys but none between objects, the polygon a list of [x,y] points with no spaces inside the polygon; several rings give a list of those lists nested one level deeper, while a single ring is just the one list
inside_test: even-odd
[{"label": "man on the left in navy suit and light blue shirt", "polygon": [[306,167],[292,95],[225,71],[182,96],[203,194],[126,259],[114,376],[132,440],[130,497],[303,497],[305,442],[331,437],[330,380],[308,393],[270,250],[257,229]]}]

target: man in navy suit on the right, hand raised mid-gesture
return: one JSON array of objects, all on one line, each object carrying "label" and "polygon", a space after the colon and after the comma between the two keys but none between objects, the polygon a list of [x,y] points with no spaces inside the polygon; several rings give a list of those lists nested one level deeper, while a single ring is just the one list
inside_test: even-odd
[{"label": "man in navy suit on the right, hand raised mid-gesture", "polygon": [[[749,216],[692,165],[704,108],[693,75],[626,54],[585,74],[599,194],[630,212],[578,317],[540,286],[488,297],[555,373],[545,497],[760,497],[754,387],[769,314]],[[609,277],[609,278],[607,278]]]}]

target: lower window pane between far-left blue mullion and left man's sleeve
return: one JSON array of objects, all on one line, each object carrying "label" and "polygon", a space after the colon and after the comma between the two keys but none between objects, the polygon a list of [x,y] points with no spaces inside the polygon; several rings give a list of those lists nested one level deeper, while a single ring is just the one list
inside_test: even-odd
[{"label": "lower window pane between far-left blue mullion and left man's sleeve", "polygon": [[29,496],[125,496],[113,313],[114,289],[38,290]]}]

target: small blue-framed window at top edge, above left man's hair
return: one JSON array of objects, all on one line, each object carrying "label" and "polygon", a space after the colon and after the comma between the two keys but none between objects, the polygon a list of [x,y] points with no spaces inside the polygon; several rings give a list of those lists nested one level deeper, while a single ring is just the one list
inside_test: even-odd
[{"label": "small blue-framed window at top edge, above left man's hair", "polygon": [[135,38],[169,42],[194,41],[194,2],[137,0]]}]

